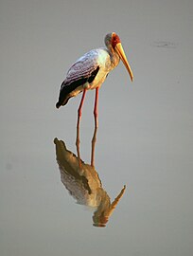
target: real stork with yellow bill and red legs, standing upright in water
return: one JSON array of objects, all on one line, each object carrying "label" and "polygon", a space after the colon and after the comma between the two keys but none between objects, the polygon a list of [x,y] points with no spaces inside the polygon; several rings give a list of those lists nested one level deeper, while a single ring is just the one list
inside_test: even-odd
[{"label": "real stork with yellow bill and red legs, standing upright in water", "polygon": [[70,67],[67,72],[66,79],[61,83],[59,101],[56,103],[57,108],[59,108],[61,105],[65,105],[70,98],[77,96],[83,91],[79,104],[77,126],[79,126],[81,108],[86,91],[93,89],[96,89],[94,116],[96,127],[98,126],[98,89],[102,82],[105,81],[109,72],[113,70],[117,64],[119,64],[120,59],[123,64],[125,64],[131,80],[133,79],[132,69],[127,61],[118,35],[114,32],[107,34],[105,36],[105,45],[107,48],[102,47],[93,49],[80,57],[79,60]]}]

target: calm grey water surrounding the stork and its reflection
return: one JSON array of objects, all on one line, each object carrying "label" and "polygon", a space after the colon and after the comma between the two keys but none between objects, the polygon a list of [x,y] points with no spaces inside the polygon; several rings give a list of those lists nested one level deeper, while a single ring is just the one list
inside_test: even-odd
[{"label": "calm grey water surrounding the stork and its reflection", "polygon": [[[193,253],[193,2],[0,1],[0,254]],[[61,81],[115,31],[123,64],[99,91],[96,171],[112,199],[107,227],[61,183],[54,138],[76,154],[80,96],[57,110]],[[94,91],[80,123],[90,161]]]}]

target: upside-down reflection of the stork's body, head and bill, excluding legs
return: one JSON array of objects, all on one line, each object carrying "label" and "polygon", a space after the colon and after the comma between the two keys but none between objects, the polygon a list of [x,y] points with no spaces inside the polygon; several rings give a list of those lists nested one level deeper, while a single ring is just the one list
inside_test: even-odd
[{"label": "upside-down reflection of the stork's body, head and bill, excluding legs", "polygon": [[81,165],[79,165],[79,157],[68,151],[62,140],[55,138],[54,143],[61,172],[61,182],[78,204],[95,210],[93,225],[105,227],[126,187],[124,186],[114,202],[111,203],[109,195],[102,188],[95,167],[84,163],[82,160],[80,160]]}]

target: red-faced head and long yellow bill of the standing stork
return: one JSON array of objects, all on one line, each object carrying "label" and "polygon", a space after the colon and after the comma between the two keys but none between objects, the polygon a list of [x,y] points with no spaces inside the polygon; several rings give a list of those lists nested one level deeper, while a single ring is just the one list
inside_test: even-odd
[{"label": "red-faced head and long yellow bill of the standing stork", "polygon": [[107,34],[105,36],[105,45],[108,48],[112,47],[114,49],[114,51],[118,54],[121,61],[123,62],[123,64],[127,68],[128,72],[130,74],[131,80],[133,80],[132,69],[130,67],[130,64],[128,63],[128,60],[127,60],[127,57],[125,55],[123,46],[121,45],[121,41],[120,41],[119,36],[114,32],[110,33],[110,34]]}]

